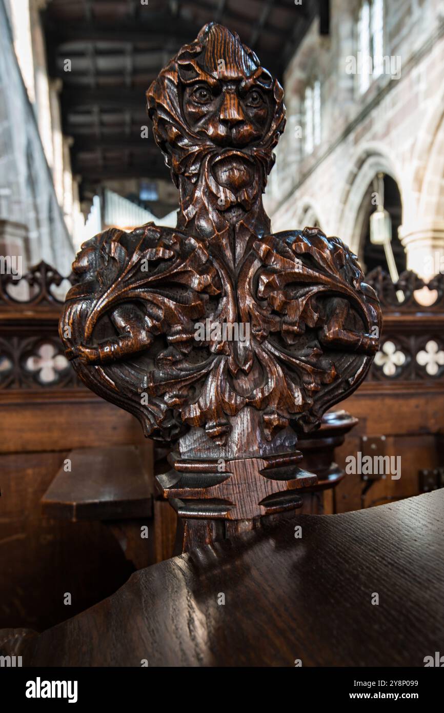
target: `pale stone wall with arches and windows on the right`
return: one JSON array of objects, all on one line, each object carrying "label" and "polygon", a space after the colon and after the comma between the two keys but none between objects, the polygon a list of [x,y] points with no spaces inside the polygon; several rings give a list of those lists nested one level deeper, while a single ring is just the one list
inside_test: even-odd
[{"label": "pale stone wall with arches and windows on the right", "polygon": [[[317,222],[362,258],[363,200],[376,173],[386,173],[401,193],[407,265],[428,277],[444,255],[444,3],[385,1],[383,53],[401,72],[371,77],[363,94],[346,71],[360,6],[331,0],[329,36],[319,36],[315,19],[289,63],[287,127],[267,208],[275,231]],[[321,81],[321,143],[305,156],[303,97],[313,77]]]}]

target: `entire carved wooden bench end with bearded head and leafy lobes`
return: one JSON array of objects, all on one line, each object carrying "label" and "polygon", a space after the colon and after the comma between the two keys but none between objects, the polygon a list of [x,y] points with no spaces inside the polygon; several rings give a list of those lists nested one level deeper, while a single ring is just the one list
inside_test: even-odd
[{"label": "entire carved wooden bench end with bearded head and leafy lobes", "polygon": [[[381,311],[356,256],[262,205],[283,91],[209,24],[147,92],[180,191],[177,228],[107,230],[73,264],[60,333],[85,384],[171,444],[160,491],[185,518],[296,508],[316,481],[296,431],[361,383]],[[100,427],[100,424],[96,424]]]}]

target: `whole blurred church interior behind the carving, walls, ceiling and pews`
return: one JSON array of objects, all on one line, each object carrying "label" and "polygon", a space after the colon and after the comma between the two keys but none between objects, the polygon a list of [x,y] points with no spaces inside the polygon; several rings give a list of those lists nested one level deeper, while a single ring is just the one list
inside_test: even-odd
[{"label": "whole blurred church interior behind the carving, walls, ceiling and pews", "polygon": [[[47,627],[171,555],[165,453],[78,382],[57,324],[84,240],[175,226],[145,91],[209,21],[284,86],[273,230],[341,237],[383,307],[349,414],[327,417],[324,450],[301,438],[324,483],[304,512],[444,486],[443,1],[0,0],[0,627]],[[401,478],[345,473],[358,452],[402,458]]]}]

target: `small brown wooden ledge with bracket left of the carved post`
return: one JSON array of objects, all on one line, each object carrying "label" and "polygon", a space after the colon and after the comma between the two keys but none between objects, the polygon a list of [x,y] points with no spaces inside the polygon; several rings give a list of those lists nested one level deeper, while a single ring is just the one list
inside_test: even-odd
[{"label": "small brown wooden ledge with bracket left of the carved post", "polygon": [[176,516],[153,493],[153,463],[139,446],[76,448],[41,499],[42,513],[71,523],[100,520],[136,569],[172,555]]}]

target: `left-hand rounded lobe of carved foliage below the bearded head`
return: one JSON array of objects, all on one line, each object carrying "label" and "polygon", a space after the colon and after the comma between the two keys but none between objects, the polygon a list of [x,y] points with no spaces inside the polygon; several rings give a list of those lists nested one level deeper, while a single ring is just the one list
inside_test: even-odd
[{"label": "left-hand rounded lobe of carved foliage below the bearded head", "polygon": [[148,224],[132,233],[107,231],[82,247],[73,265],[82,282],[68,292],[61,320],[68,357],[87,386],[138,416],[145,434],[178,434],[174,407],[211,367],[180,369],[195,342],[195,320],[220,292],[205,245]]}]

